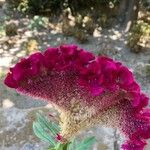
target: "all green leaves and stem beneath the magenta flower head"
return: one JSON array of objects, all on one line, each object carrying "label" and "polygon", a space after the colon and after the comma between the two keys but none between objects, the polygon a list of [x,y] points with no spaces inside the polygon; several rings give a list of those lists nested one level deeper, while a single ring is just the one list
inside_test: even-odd
[{"label": "all green leaves and stem beneath the magenta flower head", "polygon": [[48,150],[89,150],[95,142],[94,137],[87,137],[82,141],[75,139],[61,143],[56,140],[56,135],[60,132],[57,123],[49,122],[42,114],[37,114],[37,119],[33,123],[34,134],[42,141],[49,143]]}]

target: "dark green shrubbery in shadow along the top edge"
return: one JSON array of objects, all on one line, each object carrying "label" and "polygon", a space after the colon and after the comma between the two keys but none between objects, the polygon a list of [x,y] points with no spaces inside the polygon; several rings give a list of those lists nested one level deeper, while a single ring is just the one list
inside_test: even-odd
[{"label": "dark green shrubbery in shadow along the top edge", "polygon": [[59,15],[67,7],[76,14],[84,9],[93,10],[101,5],[116,4],[119,0],[7,0],[12,8],[34,15]]}]

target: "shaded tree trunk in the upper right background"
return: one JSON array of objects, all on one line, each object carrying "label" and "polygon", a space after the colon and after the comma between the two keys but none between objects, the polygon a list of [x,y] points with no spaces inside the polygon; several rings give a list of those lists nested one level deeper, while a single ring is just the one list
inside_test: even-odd
[{"label": "shaded tree trunk in the upper right background", "polygon": [[125,32],[128,32],[137,20],[140,0],[122,0],[119,8],[118,21]]}]

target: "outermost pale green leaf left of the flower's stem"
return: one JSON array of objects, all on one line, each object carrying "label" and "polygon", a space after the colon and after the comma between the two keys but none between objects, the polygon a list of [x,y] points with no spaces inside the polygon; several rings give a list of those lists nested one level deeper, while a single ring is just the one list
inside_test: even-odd
[{"label": "outermost pale green leaf left of the flower's stem", "polygon": [[33,123],[33,131],[35,135],[45,142],[49,142],[52,146],[56,145],[54,139],[43,130],[42,126],[38,122]]}]

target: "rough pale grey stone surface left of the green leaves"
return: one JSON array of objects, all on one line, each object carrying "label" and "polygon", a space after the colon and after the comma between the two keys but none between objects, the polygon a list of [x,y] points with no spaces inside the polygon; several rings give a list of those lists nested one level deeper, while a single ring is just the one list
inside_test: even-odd
[{"label": "rough pale grey stone surface left of the green leaves", "polygon": [[[38,111],[47,108],[21,110],[15,107],[0,109],[0,149],[42,150],[47,146],[33,134],[32,123]],[[42,145],[42,146],[41,146]]]}]

